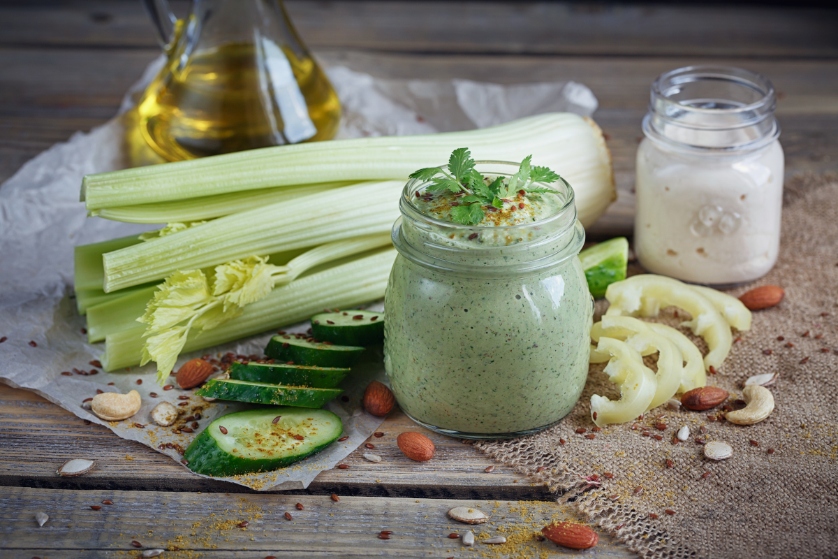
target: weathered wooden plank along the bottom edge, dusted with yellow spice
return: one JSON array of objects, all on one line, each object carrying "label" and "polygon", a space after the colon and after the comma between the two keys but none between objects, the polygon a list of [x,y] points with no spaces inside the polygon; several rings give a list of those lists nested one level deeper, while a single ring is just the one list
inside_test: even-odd
[{"label": "weathered wooden plank along the bottom edge, dusted with yellow spice", "polygon": [[[113,505],[101,505],[110,499]],[[296,504],[303,505],[297,510]],[[464,525],[447,517],[454,506],[479,507],[492,516],[484,525]],[[34,513],[49,520],[43,527]],[[292,515],[292,520],[284,517]],[[63,491],[5,488],[0,494],[0,555],[30,557],[136,557],[132,546],[168,549],[167,556],[282,557],[522,557],[578,556],[578,551],[535,541],[551,520],[572,517],[555,502],[380,499],[266,494],[193,494],[153,491]],[[239,528],[240,522],[249,524]],[[392,531],[380,540],[380,531]],[[473,530],[478,541],[502,535],[502,546],[477,544],[463,550],[448,538]],[[180,553],[173,554],[174,547]],[[543,555],[542,555],[543,554]],[[584,551],[592,559],[633,557],[602,534],[599,545]]]}]

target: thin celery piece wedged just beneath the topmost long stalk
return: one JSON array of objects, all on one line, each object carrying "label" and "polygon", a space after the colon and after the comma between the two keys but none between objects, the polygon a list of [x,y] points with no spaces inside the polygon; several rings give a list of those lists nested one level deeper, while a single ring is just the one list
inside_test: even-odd
[{"label": "thin celery piece wedged just beneath the topmost long stalk", "polygon": [[106,220],[127,221],[129,223],[173,223],[185,221],[211,220],[222,215],[235,214],[239,211],[261,208],[267,204],[287,201],[305,196],[318,194],[326,190],[348,186],[350,182],[307,184],[296,187],[278,187],[272,189],[251,190],[246,195],[239,192],[229,194],[215,194],[215,196],[201,196],[174,200],[173,202],[158,202],[156,204],[138,204],[119,206],[103,210],[93,210],[90,215],[97,215]]}]

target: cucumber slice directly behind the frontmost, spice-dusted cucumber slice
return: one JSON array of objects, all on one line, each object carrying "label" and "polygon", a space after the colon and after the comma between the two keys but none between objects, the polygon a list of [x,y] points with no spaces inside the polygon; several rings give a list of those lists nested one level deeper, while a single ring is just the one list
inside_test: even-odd
[{"label": "cucumber slice directly behind the frontmost, spice-dusted cucumber slice", "polygon": [[249,401],[251,404],[321,407],[341,392],[343,391],[339,388],[306,388],[270,385],[248,380],[212,379],[195,394],[221,400]]}]

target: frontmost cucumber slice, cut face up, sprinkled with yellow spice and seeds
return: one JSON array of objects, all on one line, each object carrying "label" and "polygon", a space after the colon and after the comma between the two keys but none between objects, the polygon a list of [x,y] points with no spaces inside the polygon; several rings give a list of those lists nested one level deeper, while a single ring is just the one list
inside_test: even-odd
[{"label": "frontmost cucumber slice, cut face up, sprinkled with yellow spice and seeds", "polygon": [[340,418],[326,410],[272,406],[239,411],[210,423],[184,458],[193,472],[216,477],[269,472],[320,452],[343,430]]}]

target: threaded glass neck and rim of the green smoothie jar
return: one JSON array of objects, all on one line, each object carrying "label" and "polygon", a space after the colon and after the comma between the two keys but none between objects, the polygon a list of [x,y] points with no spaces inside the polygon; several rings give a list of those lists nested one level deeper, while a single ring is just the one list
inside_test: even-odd
[{"label": "threaded glass neck and rim of the green smoothie jar", "polygon": [[[509,177],[520,163],[478,161],[484,175]],[[443,166],[442,168],[447,168]],[[401,220],[393,226],[393,245],[423,267],[470,275],[503,277],[554,267],[576,256],[585,233],[577,220],[573,189],[566,184],[541,184],[554,189],[561,206],[544,219],[516,225],[462,225],[423,213],[416,193],[430,180],[411,179],[399,201]]]}]

